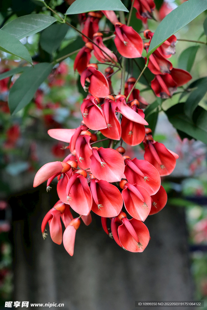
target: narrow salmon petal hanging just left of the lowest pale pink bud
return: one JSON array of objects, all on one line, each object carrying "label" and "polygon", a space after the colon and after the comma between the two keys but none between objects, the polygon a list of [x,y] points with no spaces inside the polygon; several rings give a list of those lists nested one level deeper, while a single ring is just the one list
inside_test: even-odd
[{"label": "narrow salmon petal hanging just left of the lowest pale pink bud", "polygon": [[50,236],[53,242],[57,244],[62,243],[62,225],[61,225],[61,212],[52,210],[52,219],[49,220]]}]

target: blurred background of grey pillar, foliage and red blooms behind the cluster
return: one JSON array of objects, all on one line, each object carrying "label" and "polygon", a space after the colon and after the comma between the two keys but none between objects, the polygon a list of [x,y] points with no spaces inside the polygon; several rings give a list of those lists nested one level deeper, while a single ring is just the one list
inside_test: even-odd
[{"label": "blurred background of grey pillar, foliage and red blooms behind the cluster", "polygon": [[[54,7],[65,5],[62,0],[50,2]],[[9,22],[34,10],[34,2],[28,7],[23,0],[5,3],[0,4],[2,25],[5,20]],[[158,20],[180,1],[160,4],[160,10],[155,12]],[[206,12],[176,37],[205,40],[205,18]],[[136,19],[132,26],[139,30],[142,27]],[[149,20],[148,28],[154,32],[156,27],[157,21]],[[39,44],[40,36],[37,33],[21,42],[34,61],[41,61],[41,57],[47,61],[49,55]],[[141,36],[144,38],[143,33]],[[76,37],[77,33],[69,29],[58,49],[61,51]],[[195,43],[177,41],[176,54],[170,59],[174,67],[178,67],[182,51],[192,45]],[[43,217],[58,200],[56,181],[47,193],[46,184],[33,188],[33,180],[45,163],[61,161],[69,154],[64,143],[50,138],[47,130],[76,128],[82,119],[80,105],[85,93],[76,82],[74,58],[57,64],[34,100],[12,116],[8,91],[19,74],[0,81],[0,307],[11,300],[64,303],[65,310],[131,310],[136,300],[205,300],[207,305],[207,146],[194,139],[181,140],[162,112],[154,139],[178,153],[179,159],[173,173],[162,178],[167,205],[146,219],[151,235],[146,250],[135,254],[119,248],[94,214],[92,224],[87,227],[82,223],[79,228],[73,257],[63,244],[54,244],[49,234],[43,240]],[[19,66],[20,61],[0,51],[0,73]],[[96,62],[95,58],[91,62]],[[206,71],[206,46],[201,44],[191,69],[193,80],[204,77]],[[113,75],[112,85],[118,93],[120,73]],[[155,100],[146,85],[137,83],[137,88],[147,102]],[[165,100],[162,108],[173,106],[178,97],[179,92]],[[205,95],[199,105],[207,110],[206,100]],[[131,158],[143,159],[140,146],[123,146]]]}]

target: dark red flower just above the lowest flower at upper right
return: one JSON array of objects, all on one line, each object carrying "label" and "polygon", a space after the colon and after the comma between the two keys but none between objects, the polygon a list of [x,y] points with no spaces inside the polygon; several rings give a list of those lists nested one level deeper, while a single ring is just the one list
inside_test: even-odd
[{"label": "dark red flower just above the lowest flower at upper right", "polygon": [[[148,53],[150,43],[145,43],[144,48]],[[147,59],[145,58],[145,62]],[[170,73],[173,69],[173,65],[167,59],[165,59],[158,50],[155,50],[149,57],[148,68],[153,74],[165,74]]]}]

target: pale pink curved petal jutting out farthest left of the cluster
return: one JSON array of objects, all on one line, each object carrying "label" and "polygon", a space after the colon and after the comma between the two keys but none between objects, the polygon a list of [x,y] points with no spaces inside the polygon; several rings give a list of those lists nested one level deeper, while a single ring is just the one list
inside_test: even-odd
[{"label": "pale pink curved petal jutting out farthest left of the cluster", "polygon": [[61,162],[48,162],[42,166],[34,177],[33,187],[37,187],[56,173],[61,173],[63,166]]}]

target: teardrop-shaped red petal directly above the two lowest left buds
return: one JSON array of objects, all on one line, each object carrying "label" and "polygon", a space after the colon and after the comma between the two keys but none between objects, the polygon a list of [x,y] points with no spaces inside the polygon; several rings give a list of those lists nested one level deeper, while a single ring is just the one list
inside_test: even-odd
[{"label": "teardrop-shaped red petal directly above the two lowest left buds", "polygon": [[92,208],[92,195],[87,179],[79,175],[70,188],[70,206],[82,215],[88,215]]}]

